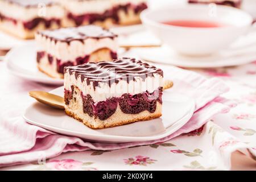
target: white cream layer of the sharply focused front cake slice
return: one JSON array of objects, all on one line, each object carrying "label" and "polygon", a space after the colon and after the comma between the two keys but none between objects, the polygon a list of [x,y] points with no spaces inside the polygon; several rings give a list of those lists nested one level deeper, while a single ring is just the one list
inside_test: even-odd
[{"label": "white cream layer of the sharply focused front cake slice", "polygon": [[132,95],[139,94],[142,92],[154,92],[159,87],[163,87],[163,77],[159,74],[153,74],[153,77],[147,77],[143,80],[141,77],[135,77],[135,81],[131,80],[129,83],[120,80],[117,84],[113,82],[110,86],[105,82],[99,82],[94,90],[92,82],[87,85],[86,80],[81,81],[81,76],[75,77],[75,73],[69,75],[67,70],[64,73],[64,88],[71,90],[71,86],[75,85],[84,95],[90,94],[94,102],[106,101],[111,97],[121,97],[125,93]]}]

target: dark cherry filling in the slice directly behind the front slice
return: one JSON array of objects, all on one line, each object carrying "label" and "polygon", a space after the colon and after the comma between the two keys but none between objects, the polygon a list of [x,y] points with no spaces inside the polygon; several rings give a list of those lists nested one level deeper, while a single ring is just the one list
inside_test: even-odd
[{"label": "dark cherry filling in the slice directly behind the front slice", "polygon": [[[53,59],[54,59],[53,56],[50,55],[50,54],[46,54],[46,52],[44,52],[44,51],[39,51],[39,52],[36,53],[36,62],[40,63],[40,60],[45,55],[47,55],[47,59],[48,59],[49,64],[52,64],[53,63]],[[113,51],[110,51],[110,57],[112,59],[117,59],[117,53],[113,52]],[[89,62],[89,59],[90,59],[90,55],[86,55],[84,57],[77,57],[75,62],[67,61],[65,63],[62,63],[62,61],[60,59],[57,59],[56,60],[57,72],[64,74],[64,67],[85,64],[85,63]]]}]

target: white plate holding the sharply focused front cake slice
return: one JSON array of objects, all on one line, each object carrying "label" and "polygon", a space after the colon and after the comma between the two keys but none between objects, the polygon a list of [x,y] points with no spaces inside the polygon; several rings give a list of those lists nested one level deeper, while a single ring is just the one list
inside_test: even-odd
[{"label": "white plate holding the sharply focused front cake slice", "polygon": [[[52,90],[53,94],[63,96],[63,87]],[[195,102],[192,98],[165,90],[163,94],[163,115],[151,121],[135,122],[109,129],[93,130],[69,117],[63,110],[35,102],[29,106],[23,118],[32,125],[56,133],[75,136],[86,140],[123,143],[143,142],[167,137],[185,125],[192,117]]]}]

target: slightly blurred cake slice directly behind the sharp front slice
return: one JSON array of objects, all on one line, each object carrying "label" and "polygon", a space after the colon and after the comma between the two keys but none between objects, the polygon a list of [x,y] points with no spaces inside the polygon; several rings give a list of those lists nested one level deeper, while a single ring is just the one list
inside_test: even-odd
[{"label": "slightly blurred cake slice directly behind the sharp front slice", "polygon": [[98,26],[39,31],[36,60],[48,76],[63,78],[64,67],[117,58],[117,35]]}]

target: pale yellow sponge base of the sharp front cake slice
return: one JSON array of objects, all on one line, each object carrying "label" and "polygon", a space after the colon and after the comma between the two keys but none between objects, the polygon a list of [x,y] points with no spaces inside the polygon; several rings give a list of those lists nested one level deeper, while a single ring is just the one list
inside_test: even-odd
[{"label": "pale yellow sponge base of the sharp front cake slice", "polygon": [[108,127],[126,125],[137,121],[147,121],[150,119],[159,118],[162,115],[162,105],[159,104],[159,102],[156,104],[156,110],[154,113],[150,113],[146,110],[139,114],[125,114],[118,105],[113,115],[111,115],[108,119],[100,120],[98,118],[90,117],[87,113],[84,113],[80,93],[81,92],[79,89],[74,89],[72,100],[69,101],[68,105],[65,105],[65,113],[92,129],[105,129]]}]

